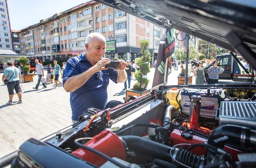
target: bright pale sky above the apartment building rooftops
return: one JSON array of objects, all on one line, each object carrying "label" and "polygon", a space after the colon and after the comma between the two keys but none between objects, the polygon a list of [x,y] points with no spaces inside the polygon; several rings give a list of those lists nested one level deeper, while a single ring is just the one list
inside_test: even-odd
[{"label": "bright pale sky above the apartment building rooftops", "polygon": [[21,30],[89,0],[7,0],[11,29]]}]

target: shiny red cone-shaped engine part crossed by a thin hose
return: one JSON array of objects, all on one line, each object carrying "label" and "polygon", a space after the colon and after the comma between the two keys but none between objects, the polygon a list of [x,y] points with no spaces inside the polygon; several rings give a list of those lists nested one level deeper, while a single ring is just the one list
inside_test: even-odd
[{"label": "shiny red cone-shaped engine part crossed by a thin hose", "polygon": [[[116,134],[114,134],[113,132],[102,131],[100,132],[100,134],[94,136],[92,140],[86,142],[84,145],[98,150],[110,157],[116,157],[122,160],[126,160],[126,150],[124,148],[124,145],[118,138],[118,136],[116,136]],[[95,164],[96,166],[101,166],[106,162],[106,159],[82,148],[78,148],[77,150],[72,152],[72,154],[92,164]]]}]

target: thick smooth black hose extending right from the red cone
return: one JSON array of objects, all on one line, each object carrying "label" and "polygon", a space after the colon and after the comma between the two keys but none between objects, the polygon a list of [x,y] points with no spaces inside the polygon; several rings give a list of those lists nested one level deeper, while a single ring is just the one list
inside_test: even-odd
[{"label": "thick smooth black hose extending right from the red cone", "polygon": [[170,161],[171,147],[142,138],[140,136],[120,136],[129,150],[139,151],[142,154],[149,155],[153,158]]}]

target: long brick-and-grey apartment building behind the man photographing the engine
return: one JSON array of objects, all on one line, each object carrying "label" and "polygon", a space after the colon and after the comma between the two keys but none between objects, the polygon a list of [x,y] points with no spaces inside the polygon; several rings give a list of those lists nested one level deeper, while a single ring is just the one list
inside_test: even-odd
[{"label": "long brick-and-grey apartment building behind the man photographing the engine", "polygon": [[68,59],[83,52],[88,34],[100,32],[106,41],[115,44],[112,50],[106,51],[107,58],[134,60],[139,57],[140,39],[149,40],[150,53],[157,53],[160,36],[154,42],[154,27],[161,29],[120,10],[90,1],[20,30],[20,50],[21,54],[43,61]]}]

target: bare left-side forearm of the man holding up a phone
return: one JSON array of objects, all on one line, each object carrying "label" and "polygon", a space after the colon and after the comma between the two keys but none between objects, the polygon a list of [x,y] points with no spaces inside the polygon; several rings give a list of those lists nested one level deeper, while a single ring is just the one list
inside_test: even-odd
[{"label": "bare left-side forearm of the man holding up a phone", "polygon": [[64,89],[66,90],[66,92],[74,92],[75,90],[83,86],[95,72],[96,71],[93,68],[90,68],[82,74],[72,76],[65,82]]}]

